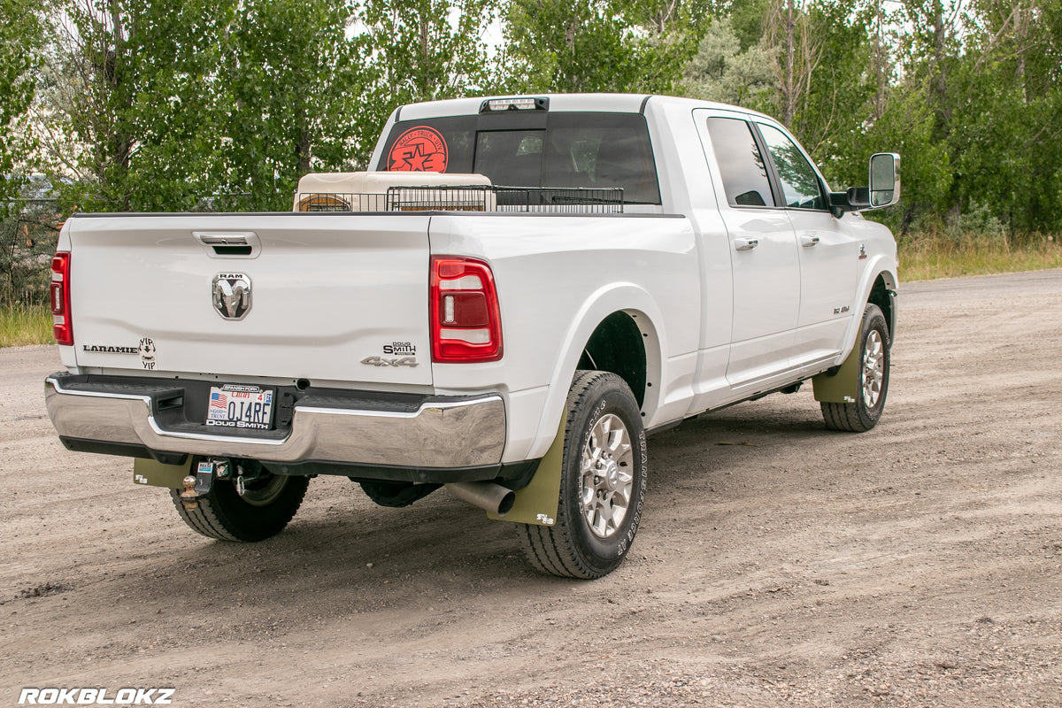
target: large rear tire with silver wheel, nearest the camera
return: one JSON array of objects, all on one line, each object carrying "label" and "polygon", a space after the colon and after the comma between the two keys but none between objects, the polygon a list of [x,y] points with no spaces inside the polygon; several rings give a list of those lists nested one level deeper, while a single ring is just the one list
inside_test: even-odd
[{"label": "large rear tire with silver wheel, nearest the camera", "polygon": [[646,472],[641,413],[627,383],[607,372],[577,372],[556,518],[553,525],[517,528],[531,565],[586,580],[615,570],[638,531]]}]

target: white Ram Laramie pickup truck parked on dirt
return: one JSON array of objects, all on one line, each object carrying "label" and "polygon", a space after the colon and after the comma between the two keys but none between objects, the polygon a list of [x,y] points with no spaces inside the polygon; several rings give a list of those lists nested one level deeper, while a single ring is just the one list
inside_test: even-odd
[{"label": "white Ram Laramie pickup truck parked on dirt", "polygon": [[[309,480],[441,486],[539,570],[631,547],[646,433],[812,380],[881,415],[896,246],[771,118],[658,96],[461,99],[391,116],[372,172],[294,211],[76,214],[52,263],[67,448],[135,457],[195,531],[260,540]],[[399,532],[400,533],[400,532]]]}]

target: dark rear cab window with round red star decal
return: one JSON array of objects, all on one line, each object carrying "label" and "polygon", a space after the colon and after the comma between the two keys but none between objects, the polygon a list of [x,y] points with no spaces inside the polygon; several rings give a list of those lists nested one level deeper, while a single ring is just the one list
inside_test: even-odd
[{"label": "dark rear cab window with round red star decal", "polygon": [[637,114],[507,111],[395,123],[377,170],[477,173],[506,187],[623,188],[660,204],[646,120]]}]

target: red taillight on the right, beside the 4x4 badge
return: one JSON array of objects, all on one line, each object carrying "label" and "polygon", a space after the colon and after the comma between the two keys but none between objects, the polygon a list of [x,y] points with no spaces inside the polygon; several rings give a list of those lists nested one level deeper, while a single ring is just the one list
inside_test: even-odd
[{"label": "red taillight on the right, beside the 4x4 badge", "polygon": [[452,256],[431,259],[431,359],[501,359],[501,315],[491,266]]}]

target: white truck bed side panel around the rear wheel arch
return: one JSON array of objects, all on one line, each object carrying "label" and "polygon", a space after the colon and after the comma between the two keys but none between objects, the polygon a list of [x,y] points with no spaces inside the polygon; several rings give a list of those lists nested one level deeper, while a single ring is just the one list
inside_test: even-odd
[{"label": "white truck bed side panel around the rear wheel arch", "polygon": [[[433,217],[433,255],[491,264],[501,308],[503,358],[435,364],[441,393],[497,390],[508,397],[506,462],[545,454],[556,434],[585,343],[626,311],[644,333],[651,426],[688,407],[700,335],[700,280],[689,221],[676,217]],[[682,393],[676,393],[676,392]]]}]

